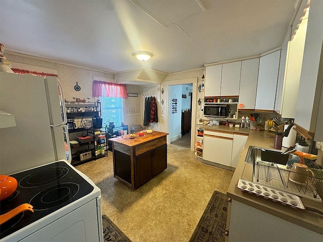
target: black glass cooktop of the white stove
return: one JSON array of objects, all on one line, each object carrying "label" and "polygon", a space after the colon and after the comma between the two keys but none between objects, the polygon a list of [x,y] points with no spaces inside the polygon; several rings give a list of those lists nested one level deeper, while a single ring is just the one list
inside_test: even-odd
[{"label": "black glass cooktop of the white stove", "polygon": [[66,162],[58,161],[12,174],[18,181],[16,192],[0,202],[1,214],[29,203],[25,211],[0,225],[0,239],[90,194],[93,187]]}]

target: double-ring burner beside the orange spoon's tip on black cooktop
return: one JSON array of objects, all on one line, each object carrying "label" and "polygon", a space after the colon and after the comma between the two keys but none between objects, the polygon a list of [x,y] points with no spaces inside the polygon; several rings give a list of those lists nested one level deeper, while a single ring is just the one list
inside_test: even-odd
[{"label": "double-ring burner beside the orange spoon's tip on black cooktop", "polygon": [[76,183],[58,184],[37,193],[29,204],[33,205],[34,211],[64,207],[79,190],[80,186]]}]

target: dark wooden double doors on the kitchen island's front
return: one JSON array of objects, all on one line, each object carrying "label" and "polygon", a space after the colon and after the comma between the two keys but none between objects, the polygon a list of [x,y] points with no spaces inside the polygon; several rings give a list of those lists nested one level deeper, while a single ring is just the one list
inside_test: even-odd
[{"label": "dark wooden double doors on the kitchen island's front", "polygon": [[135,157],[135,189],[167,168],[167,144]]}]

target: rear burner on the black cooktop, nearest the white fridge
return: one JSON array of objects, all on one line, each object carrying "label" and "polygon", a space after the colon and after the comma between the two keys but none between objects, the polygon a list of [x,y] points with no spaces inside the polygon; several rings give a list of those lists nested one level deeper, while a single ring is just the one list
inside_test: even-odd
[{"label": "rear burner on the black cooktop, nearest the white fridge", "polygon": [[28,174],[19,181],[22,188],[35,188],[64,177],[69,172],[67,167],[57,166]]}]

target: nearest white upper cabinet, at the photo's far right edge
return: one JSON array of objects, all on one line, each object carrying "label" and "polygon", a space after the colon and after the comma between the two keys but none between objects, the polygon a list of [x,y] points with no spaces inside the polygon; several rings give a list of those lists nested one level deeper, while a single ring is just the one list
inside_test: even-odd
[{"label": "nearest white upper cabinet, at the photo's far right edge", "polygon": [[[323,141],[322,72],[323,72],[323,1],[311,1],[305,47],[296,102],[295,124],[299,133]],[[303,131],[302,131],[303,130]],[[302,135],[306,135],[303,134]]]}]

